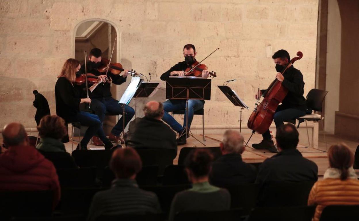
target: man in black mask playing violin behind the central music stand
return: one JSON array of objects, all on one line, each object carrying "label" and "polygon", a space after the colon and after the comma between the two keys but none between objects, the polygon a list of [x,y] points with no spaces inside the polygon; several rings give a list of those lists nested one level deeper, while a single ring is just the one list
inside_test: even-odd
[{"label": "man in black mask playing violin behind the central music stand", "polygon": [[[193,44],[186,44],[185,47],[183,47],[183,56],[185,56],[185,61],[179,62],[172,68],[170,68],[168,71],[164,72],[161,75],[161,80],[165,81],[169,76],[184,76],[185,70],[188,67],[191,67],[192,64],[196,63],[196,48]],[[191,75],[188,75],[191,76]],[[203,70],[202,71],[202,78],[208,78],[209,77],[209,71]],[[177,139],[178,145],[183,145],[187,143],[187,136],[185,128],[190,129],[191,122],[193,119],[194,112],[197,110],[202,109],[204,106],[204,100],[188,100],[188,127],[186,127],[186,117],[187,113],[185,112],[185,119],[183,121],[183,126],[178,123],[171,115],[168,114],[168,112],[172,111],[180,111],[180,110],[186,110],[186,100],[167,100],[163,102],[163,109],[164,109],[164,115],[162,117],[162,120],[166,122],[171,128],[175,131],[177,131],[181,136]]]}]

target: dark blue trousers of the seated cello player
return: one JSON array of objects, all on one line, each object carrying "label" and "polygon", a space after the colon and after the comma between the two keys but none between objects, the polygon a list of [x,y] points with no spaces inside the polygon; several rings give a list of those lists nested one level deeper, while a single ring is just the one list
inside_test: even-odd
[{"label": "dark blue trousers of the seated cello player", "polygon": [[[305,110],[298,110],[295,108],[288,108],[285,109],[283,105],[279,105],[277,109],[275,110],[275,114],[273,116],[273,121],[275,123],[275,127],[279,128],[279,126],[283,125],[283,121],[288,122],[293,119],[296,119],[297,117],[301,117],[306,115]],[[271,134],[269,129],[262,134],[263,139],[271,140]]]}]

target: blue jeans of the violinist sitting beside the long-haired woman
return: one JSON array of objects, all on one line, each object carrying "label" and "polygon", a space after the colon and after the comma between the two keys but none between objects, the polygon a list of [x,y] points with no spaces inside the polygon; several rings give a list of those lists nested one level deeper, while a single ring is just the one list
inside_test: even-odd
[{"label": "blue jeans of the violinist sitting beside the long-haired woman", "polygon": [[[123,109],[125,109],[125,116],[122,116],[118,120],[117,124],[112,128],[111,133],[115,136],[120,136],[124,128],[122,128],[123,117],[125,118],[125,127],[130,122],[132,117],[135,115],[135,110],[126,104],[119,104],[117,100],[112,97],[102,99],[92,99],[91,109],[99,117],[101,123],[105,119],[106,111],[111,114],[122,115]],[[103,130],[102,130],[103,131]]]}]

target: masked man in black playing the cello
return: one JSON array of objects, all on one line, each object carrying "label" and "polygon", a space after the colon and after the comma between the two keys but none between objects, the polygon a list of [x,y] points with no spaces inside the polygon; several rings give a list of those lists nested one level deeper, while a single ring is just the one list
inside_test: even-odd
[{"label": "masked man in black playing the cello", "polygon": [[[283,121],[290,122],[297,117],[306,115],[306,99],[303,97],[304,81],[302,73],[289,64],[289,68],[282,75],[281,72],[290,62],[289,53],[283,49],[277,51],[272,56],[274,59],[275,69],[278,72],[276,78],[282,82],[282,85],[288,89],[288,93],[275,111],[273,120],[276,128],[283,125]],[[266,90],[261,90],[255,97],[259,99]],[[255,149],[268,149],[272,153],[278,153],[271,138],[269,129],[262,134],[263,140],[259,144],[252,144]]]}]

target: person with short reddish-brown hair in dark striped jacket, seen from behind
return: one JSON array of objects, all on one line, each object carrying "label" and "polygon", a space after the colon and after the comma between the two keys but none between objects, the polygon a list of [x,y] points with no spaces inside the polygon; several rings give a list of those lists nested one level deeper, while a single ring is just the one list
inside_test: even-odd
[{"label": "person with short reddish-brown hair in dark striped jacket, seen from behind", "polygon": [[160,213],[155,193],[140,189],[136,174],[142,169],[140,156],[133,148],[116,149],[112,154],[110,168],[116,179],[112,188],[100,191],[93,197],[88,221],[101,215]]}]

